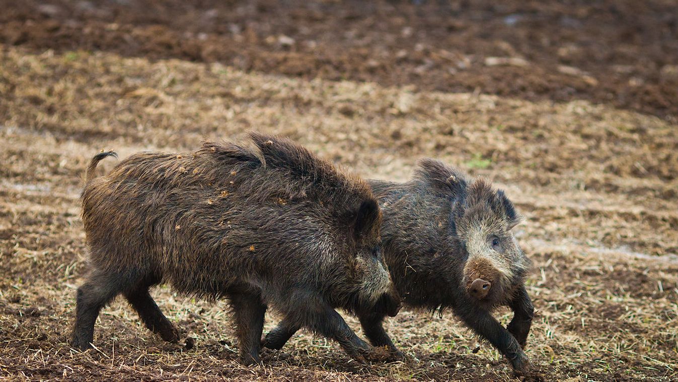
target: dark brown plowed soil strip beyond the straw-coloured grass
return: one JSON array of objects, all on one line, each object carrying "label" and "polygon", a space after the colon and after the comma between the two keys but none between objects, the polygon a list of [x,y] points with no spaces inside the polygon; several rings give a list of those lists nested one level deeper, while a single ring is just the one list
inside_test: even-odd
[{"label": "dark brown plowed soil strip beyond the straw-coloured grass", "polygon": [[0,41],[678,117],[675,1],[12,1]]}]

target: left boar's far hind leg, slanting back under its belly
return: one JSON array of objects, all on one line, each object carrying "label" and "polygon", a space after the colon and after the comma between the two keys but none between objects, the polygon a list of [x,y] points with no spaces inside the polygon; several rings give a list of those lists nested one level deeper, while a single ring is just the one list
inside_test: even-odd
[{"label": "left boar's far hind leg, slanting back under its belly", "polygon": [[148,293],[148,288],[157,284],[159,280],[147,280],[135,288],[125,292],[125,298],[132,305],[134,310],[139,313],[144,325],[148,330],[162,337],[163,340],[171,343],[179,341],[179,331],[176,330],[172,322],[167,320],[158,305],[153,301],[153,297]]}]

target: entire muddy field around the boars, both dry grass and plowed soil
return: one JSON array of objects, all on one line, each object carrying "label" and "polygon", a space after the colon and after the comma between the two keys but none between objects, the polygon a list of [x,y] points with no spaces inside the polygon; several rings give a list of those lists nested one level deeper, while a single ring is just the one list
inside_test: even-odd
[{"label": "entire muddy field around the boars, both dry grass and plowed soil", "polygon": [[491,178],[526,218],[546,379],[678,379],[678,3],[469,3],[0,0],[0,379],[512,379],[450,313],[412,311],[387,323],[407,362],[304,333],[245,368],[226,304],[166,287],[195,346],[115,301],[70,349],[89,158],[246,130],[366,177],[437,157]]}]

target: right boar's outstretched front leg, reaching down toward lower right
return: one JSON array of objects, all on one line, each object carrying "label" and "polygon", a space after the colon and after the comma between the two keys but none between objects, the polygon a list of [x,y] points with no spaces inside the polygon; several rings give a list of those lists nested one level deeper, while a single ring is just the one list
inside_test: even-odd
[{"label": "right boar's outstretched front leg, reaching down toward lower right", "polygon": [[489,311],[475,307],[470,302],[458,305],[456,313],[464,323],[482,339],[491,343],[506,357],[519,376],[532,377],[530,360],[518,341]]}]

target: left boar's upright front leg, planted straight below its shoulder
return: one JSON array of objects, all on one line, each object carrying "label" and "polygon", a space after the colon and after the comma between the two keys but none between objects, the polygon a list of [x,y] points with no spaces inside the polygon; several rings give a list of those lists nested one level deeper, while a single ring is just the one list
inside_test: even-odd
[{"label": "left boar's upright front leg, planted straight below its shoulder", "polygon": [[258,294],[233,294],[231,305],[235,316],[235,328],[240,345],[240,362],[258,364],[261,350],[261,335],[264,330],[266,305]]}]

